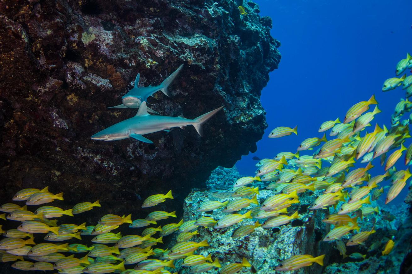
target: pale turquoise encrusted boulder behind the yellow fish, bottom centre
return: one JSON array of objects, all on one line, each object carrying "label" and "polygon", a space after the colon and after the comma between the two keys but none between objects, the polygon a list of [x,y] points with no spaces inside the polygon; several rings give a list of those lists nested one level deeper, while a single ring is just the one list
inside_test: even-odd
[{"label": "pale turquoise encrusted boulder behind the yellow fish, bottom centre", "polygon": [[[212,217],[215,220],[227,215],[222,212],[222,209],[216,209],[213,212],[198,212],[197,206],[202,202],[217,200],[220,202],[231,201],[239,199],[232,197],[231,192],[225,190],[198,190],[194,189],[186,198],[184,203],[183,219],[185,221],[197,220],[202,216]],[[267,197],[272,196],[271,190],[260,190],[258,200],[261,204]],[[257,219],[244,219],[238,225],[233,225],[228,228],[215,229],[213,227],[199,227],[197,231],[199,235],[193,237],[193,241],[199,242],[207,240],[209,247],[200,248],[198,254],[208,255],[212,254],[213,258],[218,258],[223,265],[229,262],[240,262],[243,257],[248,258],[248,261],[253,266],[252,268],[245,268],[239,273],[257,273],[257,274],[273,274],[274,268],[279,263],[296,254],[326,254],[325,265],[332,246],[322,241],[327,231],[327,225],[321,220],[325,218],[326,211],[307,210],[311,205],[315,196],[312,193],[300,194],[300,205],[288,208],[289,212],[294,212],[298,208],[304,210],[299,211],[302,216],[299,220],[292,221],[287,225],[282,225],[279,228],[256,228],[254,232],[241,238],[232,238],[233,231],[240,225],[251,225]],[[242,209],[240,213],[244,214],[246,211],[253,208],[250,207]],[[264,220],[260,219],[260,223]],[[176,235],[177,236],[177,235]],[[176,237],[175,237],[176,238]],[[174,241],[170,246],[173,246]],[[189,268],[180,267],[181,261],[176,261],[175,265],[180,274],[189,273]],[[208,273],[218,273],[219,269],[215,269]],[[296,273],[311,273],[321,274],[322,267],[313,265],[311,267],[304,267],[296,271]]]}]

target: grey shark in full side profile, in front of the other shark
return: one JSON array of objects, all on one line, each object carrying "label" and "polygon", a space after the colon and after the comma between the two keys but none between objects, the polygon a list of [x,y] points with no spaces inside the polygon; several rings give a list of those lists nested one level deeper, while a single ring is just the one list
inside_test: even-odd
[{"label": "grey shark in full side profile, in front of the other shark", "polygon": [[140,104],[136,116],[97,132],[95,135],[91,136],[91,139],[115,141],[134,138],[141,142],[153,144],[151,140],[143,135],[162,130],[170,131],[171,128],[177,127],[184,129],[187,125],[193,125],[197,133],[199,133],[200,136],[203,136],[202,125],[222,108],[223,107],[219,107],[194,119],[187,119],[183,117],[183,115],[177,117],[150,115],[147,112],[146,102],[143,101]]}]

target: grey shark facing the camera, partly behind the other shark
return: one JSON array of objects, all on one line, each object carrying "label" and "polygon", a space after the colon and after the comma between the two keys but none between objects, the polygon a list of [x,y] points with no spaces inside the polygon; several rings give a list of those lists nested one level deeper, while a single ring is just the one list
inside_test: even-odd
[{"label": "grey shark facing the camera, partly behind the other shark", "polygon": [[[178,76],[180,70],[182,70],[183,64],[178,67],[175,72],[170,74],[169,77],[164,79],[162,84],[159,86],[145,86],[142,88],[139,88],[139,80],[140,80],[140,73],[137,74],[136,79],[134,80],[134,87],[125,95],[122,96],[122,104],[119,104],[118,106],[115,107],[109,107],[109,108],[138,108],[140,107],[140,104],[142,102],[147,101],[147,98],[155,94],[157,91],[162,91],[166,96],[172,97],[172,94],[168,90],[170,84],[173,82],[173,80]],[[147,108],[147,110],[153,114],[158,114],[156,111]]]}]

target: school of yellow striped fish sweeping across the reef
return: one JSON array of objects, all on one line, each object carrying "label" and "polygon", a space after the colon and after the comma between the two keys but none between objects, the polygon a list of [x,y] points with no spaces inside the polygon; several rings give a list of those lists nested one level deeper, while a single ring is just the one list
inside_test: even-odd
[{"label": "school of yellow striped fish sweeping across the reef", "polygon": [[[402,74],[411,67],[412,59],[408,54],[407,59],[398,63],[396,74]],[[240,262],[232,262],[222,267],[217,258],[212,258],[212,254],[194,254],[197,249],[209,246],[207,241],[191,241],[199,234],[197,229],[213,227],[218,230],[236,225],[243,219],[257,219],[252,225],[240,225],[234,230],[232,237],[241,238],[253,233],[258,227],[275,228],[286,225],[301,217],[298,211],[288,213],[288,208],[299,204],[299,194],[307,190],[317,195],[309,210],[334,207],[336,212],[323,220],[331,225],[323,241],[335,241],[343,258],[365,258],[366,255],[361,253],[346,255],[346,246],[365,244],[368,237],[375,233],[373,228],[365,231],[358,226],[358,218],[374,212],[379,213],[378,207],[365,205],[370,204],[371,200],[377,200],[384,193],[384,188],[379,187],[379,183],[384,180],[391,181],[385,203],[391,202],[406,186],[411,176],[408,168],[397,171],[393,165],[403,151],[406,151],[405,165],[408,165],[412,158],[412,145],[406,148],[403,144],[405,139],[410,138],[408,124],[412,122],[412,117],[402,120],[403,114],[412,109],[412,103],[407,100],[412,95],[412,76],[388,79],[382,90],[389,91],[401,85],[406,89],[406,99],[396,105],[389,129],[385,125],[380,127],[376,124],[373,130],[366,132],[374,116],[380,112],[374,95],[367,101],[354,104],[344,116],[343,123],[337,118],[321,124],[318,131],[331,130],[330,136],[337,136],[335,139],[327,140],[324,133],[323,137],[304,139],[296,153],[281,152],[273,159],[262,159],[257,164],[255,176],[243,177],[234,183],[232,196],[239,199],[230,202],[207,201],[198,205],[197,210],[204,212],[222,208],[227,215],[219,220],[203,216],[197,220],[180,220],[156,227],[157,221],[177,216],[176,211],[153,211],[145,219],[134,221],[131,215],[107,214],[95,225],[58,224],[58,218],[63,215],[75,216],[101,205],[99,201],[82,202],[73,209],[65,210],[45,205],[54,200],[63,200],[63,193],[54,195],[47,187],[42,190],[20,190],[12,200],[24,205],[6,203],[0,206],[0,211],[4,212],[0,214],[0,219],[20,222],[16,228],[9,230],[3,230],[3,225],[0,225],[0,235],[3,236],[0,240],[0,261],[13,262],[12,267],[20,270],[54,270],[59,274],[167,274],[171,272],[166,268],[175,268],[173,262],[181,259],[183,267],[191,267],[190,273],[220,268],[221,274],[232,274],[252,265],[247,258],[243,258]],[[371,105],[376,105],[374,110],[365,113]],[[275,128],[269,137],[282,137],[292,133],[297,135],[297,126]],[[315,147],[319,148],[312,156],[300,156],[299,151],[312,150]],[[393,149],[395,151],[390,153]],[[386,172],[371,178],[369,170],[374,167],[373,159],[378,157]],[[367,164],[350,170],[356,160],[361,158],[361,163]],[[266,188],[273,190],[274,195],[259,202],[259,188],[247,186],[254,181],[268,182]],[[166,199],[173,199],[171,191],[147,197],[142,207],[154,207]],[[340,201],[342,203],[339,204]],[[236,213],[252,204],[256,206],[246,213]],[[338,204],[340,207],[336,209]],[[33,206],[40,207],[34,209]],[[259,219],[265,221],[260,223]],[[112,232],[124,224],[129,224],[130,228],[147,228],[141,231],[140,235],[122,236],[120,232]],[[179,234],[176,244],[170,250],[154,248],[156,244],[163,243],[163,237],[177,231]],[[159,237],[153,237],[157,232]],[[33,234],[45,234],[45,242],[36,244]],[[348,238],[345,237],[347,235],[351,237],[345,244],[342,239]],[[82,240],[82,237],[90,237],[94,244],[86,246],[62,243],[70,239]],[[382,255],[389,254],[394,245],[393,239],[389,239],[382,248]],[[370,250],[376,248],[379,248],[376,243],[370,245]],[[295,255],[283,260],[275,270],[295,270],[310,266],[314,262],[323,265],[324,256],[325,254]],[[125,268],[133,265],[134,268]]]}]

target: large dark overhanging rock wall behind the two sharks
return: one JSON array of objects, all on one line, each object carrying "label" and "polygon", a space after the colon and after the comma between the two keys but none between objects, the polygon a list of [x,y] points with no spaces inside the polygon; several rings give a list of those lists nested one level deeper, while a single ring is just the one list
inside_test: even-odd
[{"label": "large dark overhanging rock wall behind the two sharks", "polygon": [[[172,188],[183,201],[215,167],[255,151],[267,127],[260,92],[280,61],[272,21],[258,13],[241,0],[2,1],[0,200],[48,185],[68,201],[144,217],[140,197]],[[187,127],[150,135],[152,145],[90,139],[136,114],[107,107],[137,73],[142,86],[157,85],[181,64],[173,98],[148,101],[187,118],[225,106],[204,137]]]}]

